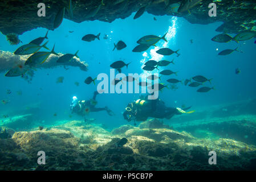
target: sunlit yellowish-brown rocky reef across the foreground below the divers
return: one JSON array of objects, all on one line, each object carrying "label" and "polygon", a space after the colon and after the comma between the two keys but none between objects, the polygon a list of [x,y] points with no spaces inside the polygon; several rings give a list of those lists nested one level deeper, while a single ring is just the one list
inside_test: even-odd
[{"label": "sunlit yellowish-brown rocky reef across the foreground below the divers", "polygon": [[[152,122],[152,121],[149,121]],[[159,122],[156,122],[159,123]],[[1,170],[255,170],[256,148],[233,139],[198,139],[185,131],[120,126],[112,132],[70,121],[0,139]],[[155,125],[157,126],[157,124]],[[128,142],[117,143],[121,138]],[[38,165],[37,153],[46,153]],[[208,163],[216,151],[217,164]]]}]

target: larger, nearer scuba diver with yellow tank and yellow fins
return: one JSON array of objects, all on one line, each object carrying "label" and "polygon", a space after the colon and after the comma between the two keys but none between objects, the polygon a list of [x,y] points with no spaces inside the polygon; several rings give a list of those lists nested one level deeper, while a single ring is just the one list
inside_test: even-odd
[{"label": "larger, nearer scuba diver with yellow tank and yellow fins", "polygon": [[175,114],[193,113],[194,111],[185,111],[190,109],[190,107],[184,109],[179,107],[166,107],[164,101],[160,99],[148,100],[147,98],[141,97],[139,100],[133,101],[125,107],[123,116],[128,122],[146,121],[148,117],[170,119]]}]

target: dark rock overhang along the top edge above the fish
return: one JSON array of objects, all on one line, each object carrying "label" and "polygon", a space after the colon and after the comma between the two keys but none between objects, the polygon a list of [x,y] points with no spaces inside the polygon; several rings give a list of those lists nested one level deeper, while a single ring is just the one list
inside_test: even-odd
[{"label": "dark rock overhang along the top edge above the fish", "polygon": [[[46,16],[37,15],[38,3],[41,1],[32,0],[11,0],[0,1],[0,31],[3,34],[16,33],[23,34],[25,31],[37,27],[54,30],[54,18],[59,9],[68,6],[66,0],[44,1],[46,5]],[[64,18],[74,22],[84,22],[86,20],[100,20],[112,22],[117,18],[127,18],[142,6],[146,6],[146,11],[153,15],[182,16],[191,23],[208,24],[213,22],[224,22],[216,31],[237,33],[242,30],[256,30],[256,2],[254,0],[234,1],[234,0],[204,0],[197,6],[184,13],[177,13],[173,7],[174,3],[181,0],[104,0],[101,2],[90,0],[72,1],[74,16],[71,18],[68,13]],[[217,16],[208,15],[209,3],[216,3]]]}]

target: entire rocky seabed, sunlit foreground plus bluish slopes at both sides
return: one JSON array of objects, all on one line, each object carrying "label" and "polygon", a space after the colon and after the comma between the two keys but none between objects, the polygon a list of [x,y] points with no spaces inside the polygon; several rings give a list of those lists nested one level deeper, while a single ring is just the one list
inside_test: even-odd
[{"label": "entire rocky seabed, sunlit foreground plus bluish slopes at both sides", "polygon": [[[112,131],[67,120],[15,132],[10,127],[24,125],[31,114],[6,118],[0,126],[0,169],[255,170],[256,114],[248,109],[255,104],[217,106],[170,121],[148,119]],[[124,137],[128,142],[118,147]],[[45,165],[38,165],[38,151],[45,152]],[[216,165],[209,164],[210,151],[216,152]]]}]

